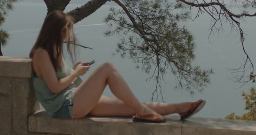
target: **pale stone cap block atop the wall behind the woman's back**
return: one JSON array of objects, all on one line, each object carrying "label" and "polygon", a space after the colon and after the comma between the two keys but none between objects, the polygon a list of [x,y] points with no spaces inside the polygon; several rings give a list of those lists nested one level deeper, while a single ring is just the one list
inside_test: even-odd
[{"label": "pale stone cap block atop the wall behind the woman's back", "polygon": [[31,59],[0,56],[0,77],[31,77]]}]

